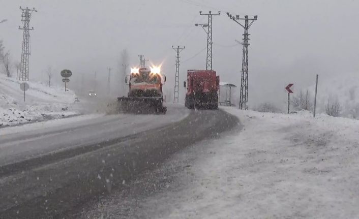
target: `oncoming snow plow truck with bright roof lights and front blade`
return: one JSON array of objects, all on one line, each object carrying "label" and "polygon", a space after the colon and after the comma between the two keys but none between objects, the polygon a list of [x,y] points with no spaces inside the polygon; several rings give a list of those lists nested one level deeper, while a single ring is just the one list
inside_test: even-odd
[{"label": "oncoming snow plow truck with bright roof lights and front blade", "polygon": [[127,97],[117,98],[119,111],[133,114],[165,114],[162,86],[166,77],[161,67],[132,68],[125,82],[129,85]]}]

